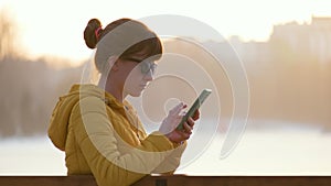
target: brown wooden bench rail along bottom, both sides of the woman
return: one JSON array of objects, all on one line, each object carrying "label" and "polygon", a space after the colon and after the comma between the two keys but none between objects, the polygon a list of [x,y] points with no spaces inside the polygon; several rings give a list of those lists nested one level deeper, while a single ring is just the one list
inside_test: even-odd
[{"label": "brown wooden bench rail along bottom, both sides of the woman", "polygon": [[[0,176],[2,186],[96,186],[92,175]],[[330,186],[330,176],[147,176],[134,186]]]}]

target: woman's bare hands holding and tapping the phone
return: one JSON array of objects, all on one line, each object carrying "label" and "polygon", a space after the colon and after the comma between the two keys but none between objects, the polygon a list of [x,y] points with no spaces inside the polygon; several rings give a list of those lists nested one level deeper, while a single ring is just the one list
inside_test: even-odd
[{"label": "woman's bare hands holding and tapping the phone", "polygon": [[181,102],[171,109],[159,129],[159,131],[173,143],[181,143],[182,141],[188,140],[192,134],[194,121],[200,118],[200,112],[196,110],[194,116],[192,118],[190,117],[188,121],[183,123],[183,130],[177,130],[178,124],[184,116],[182,111],[184,108],[186,108],[186,105]]}]

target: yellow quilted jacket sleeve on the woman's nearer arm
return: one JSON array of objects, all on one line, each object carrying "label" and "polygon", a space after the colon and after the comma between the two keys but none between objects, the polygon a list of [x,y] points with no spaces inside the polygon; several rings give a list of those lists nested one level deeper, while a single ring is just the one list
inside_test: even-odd
[{"label": "yellow quilted jacket sleeve on the woman's nearer arm", "polygon": [[[113,118],[116,123],[110,123],[108,117],[117,116],[111,116],[98,98],[83,99],[73,113],[71,128],[100,186],[131,185],[152,173],[175,147],[158,132],[148,135],[138,146],[127,144],[126,133],[114,130],[115,124],[121,124],[120,119]],[[127,151],[122,153],[119,149]]]}]

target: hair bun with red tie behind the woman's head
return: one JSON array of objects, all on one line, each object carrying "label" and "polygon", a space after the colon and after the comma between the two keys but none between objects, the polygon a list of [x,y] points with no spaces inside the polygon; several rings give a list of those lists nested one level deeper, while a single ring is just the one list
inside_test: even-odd
[{"label": "hair bun with red tie behind the woman's head", "polygon": [[[85,44],[89,48],[95,48],[98,43],[98,35],[103,32],[102,22],[98,19],[90,19],[84,30]],[[97,32],[96,32],[97,31]]]}]

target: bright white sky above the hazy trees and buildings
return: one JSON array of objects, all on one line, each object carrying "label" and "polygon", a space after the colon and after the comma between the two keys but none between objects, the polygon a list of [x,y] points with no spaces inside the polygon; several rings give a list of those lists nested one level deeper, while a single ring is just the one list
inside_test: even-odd
[{"label": "bright white sky above the hazy trees and buildings", "polygon": [[119,18],[179,14],[202,21],[223,36],[266,41],[274,24],[310,22],[331,17],[330,0],[0,0],[20,24],[20,36],[34,56],[55,55],[79,61],[90,56],[83,40],[87,21],[104,25]]}]

